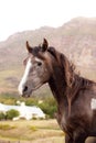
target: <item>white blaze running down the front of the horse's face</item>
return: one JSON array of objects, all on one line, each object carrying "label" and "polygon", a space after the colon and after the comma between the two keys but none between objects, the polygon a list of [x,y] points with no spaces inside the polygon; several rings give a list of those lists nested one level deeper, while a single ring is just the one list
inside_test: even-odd
[{"label": "white blaze running down the front of the horse's face", "polygon": [[29,58],[24,75],[23,75],[23,77],[22,77],[22,79],[20,81],[20,85],[19,85],[20,95],[23,95],[23,88],[25,86],[25,82],[26,82],[26,79],[28,79],[28,76],[29,76],[29,73],[30,73],[31,68],[32,68],[32,63],[31,63],[31,58]]}]

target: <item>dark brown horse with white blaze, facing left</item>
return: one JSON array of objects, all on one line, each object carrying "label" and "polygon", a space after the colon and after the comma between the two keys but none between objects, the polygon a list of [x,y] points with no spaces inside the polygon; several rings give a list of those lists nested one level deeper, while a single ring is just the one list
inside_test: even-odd
[{"label": "dark brown horse with white blaze, facing left", "polygon": [[30,97],[47,82],[57,102],[56,119],[65,143],[85,143],[88,136],[96,136],[96,82],[77,74],[74,64],[49,46],[46,38],[34,47],[26,41],[26,50],[20,95]]}]

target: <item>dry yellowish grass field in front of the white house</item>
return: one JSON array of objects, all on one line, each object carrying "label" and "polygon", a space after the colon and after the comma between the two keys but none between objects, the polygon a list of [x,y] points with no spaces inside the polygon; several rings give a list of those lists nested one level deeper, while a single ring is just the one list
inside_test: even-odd
[{"label": "dry yellowish grass field in front of the white house", "polygon": [[64,143],[56,120],[0,121],[0,139],[20,143]]}]

